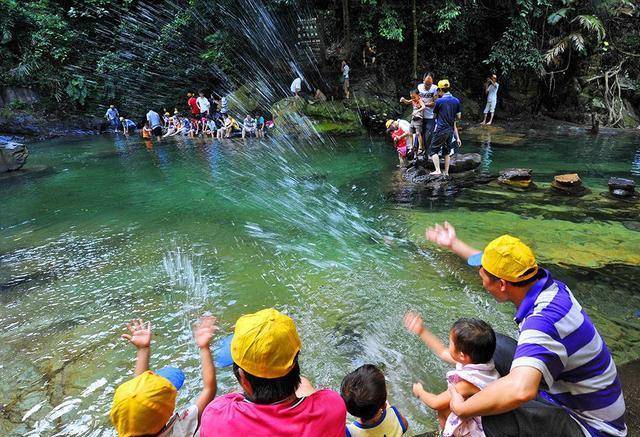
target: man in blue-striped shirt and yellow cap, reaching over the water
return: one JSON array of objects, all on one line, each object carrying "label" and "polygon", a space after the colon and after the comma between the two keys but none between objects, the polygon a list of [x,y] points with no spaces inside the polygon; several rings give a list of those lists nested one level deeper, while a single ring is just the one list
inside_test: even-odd
[{"label": "man in blue-striped shirt and yellow cap, reaching over the water", "polygon": [[567,286],[538,267],[531,249],[503,235],[479,252],[446,222],[426,235],[480,267],[484,288],[517,308],[520,336],[511,370],[466,400],[450,389],[451,410],[462,418],[483,416],[489,437],[626,436],[622,388],[607,345]]}]

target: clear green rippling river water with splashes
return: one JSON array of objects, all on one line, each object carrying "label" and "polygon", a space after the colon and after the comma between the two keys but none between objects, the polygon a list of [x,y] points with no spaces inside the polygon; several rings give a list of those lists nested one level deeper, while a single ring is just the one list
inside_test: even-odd
[{"label": "clear green rippling river water with splashes", "polygon": [[[502,232],[531,242],[617,360],[640,355],[640,210],[600,195],[609,176],[640,174],[637,137],[467,143],[486,171],[532,167],[540,182],[578,171],[593,193],[483,185],[432,199],[398,183],[393,151],[377,139],[30,146],[28,165],[51,171],[0,182],[0,435],[111,435],[113,390],[135,357],[118,337],[132,317],[154,322],[152,366],[185,370],[184,405],[200,387],[189,324],[211,311],[229,332],[266,306],[296,320],[314,384],[337,388],[376,363],[412,429],[433,429],[410,387],[443,389],[447,368],[404,332],[404,312],[418,309],[443,337],[470,315],[515,334],[513,308],[425,244],[424,226],[444,219],[477,244]],[[235,387],[229,369],[218,374],[220,393]]]}]

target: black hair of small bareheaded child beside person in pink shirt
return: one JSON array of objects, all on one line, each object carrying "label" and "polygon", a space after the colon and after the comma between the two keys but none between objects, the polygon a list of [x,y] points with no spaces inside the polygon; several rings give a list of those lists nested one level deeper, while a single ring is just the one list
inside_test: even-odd
[{"label": "black hair of small bareheaded child beside person in pink shirt", "polygon": [[349,414],[371,420],[387,402],[384,374],[373,364],[360,366],[344,377],[340,395]]}]

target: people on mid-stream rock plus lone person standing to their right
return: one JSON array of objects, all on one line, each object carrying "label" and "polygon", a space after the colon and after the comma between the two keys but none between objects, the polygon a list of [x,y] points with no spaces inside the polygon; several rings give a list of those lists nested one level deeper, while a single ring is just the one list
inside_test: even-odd
[{"label": "people on mid-stream rock plus lone person standing to their right", "polygon": [[[401,167],[407,166],[409,158],[426,156],[433,161],[434,175],[449,175],[451,156],[462,146],[457,122],[462,115],[460,100],[451,94],[451,84],[447,79],[434,83],[434,74],[424,75],[422,83],[411,90],[410,98],[400,98],[400,103],[411,105],[411,121],[399,118],[388,120],[387,132],[391,134]],[[490,125],[498,99],[497,76],[487,78],[484,91],[487,104],[484,109],[483,125]],[[487,121],[487,116],[490,116]],[[440,158],[444,158],[444,171],[440,170]]]}]

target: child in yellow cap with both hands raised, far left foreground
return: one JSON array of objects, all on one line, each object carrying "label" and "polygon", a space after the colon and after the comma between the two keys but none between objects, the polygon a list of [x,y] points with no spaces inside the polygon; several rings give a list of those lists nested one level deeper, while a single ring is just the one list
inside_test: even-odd
[{"label": "child in yellow cap with both hands raised, far left foreground", "polygon": [[175,367],[149,370],[151,323],[142,319],[127,324],[129,334],[122,338],[137,349],[135,377],[116,389],[111,406],[111,422],[121,437],[193,436],[198,430],[204,408],[216,395],[216,370],[210,343],[218,329],[214,317],[202,317],[194,326],[193,337],[200,350],[204,388],[195,403],[174,413],[178,390],[184,374]]}]

